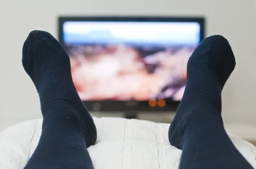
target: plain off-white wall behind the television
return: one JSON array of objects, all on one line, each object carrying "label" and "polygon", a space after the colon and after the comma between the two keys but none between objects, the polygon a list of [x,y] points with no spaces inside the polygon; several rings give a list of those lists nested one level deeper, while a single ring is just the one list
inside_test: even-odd
[{"label": "plain off-white wall behind the television", "polygon": [[236,70],[223,91],[224,121],[256,124],[255,0],[13,0],[0,2],[0,130],[41,118],[21,50],[29,31],[56,36],[58,15],[205,16],[207,35],[224,35],[236,55]]}]

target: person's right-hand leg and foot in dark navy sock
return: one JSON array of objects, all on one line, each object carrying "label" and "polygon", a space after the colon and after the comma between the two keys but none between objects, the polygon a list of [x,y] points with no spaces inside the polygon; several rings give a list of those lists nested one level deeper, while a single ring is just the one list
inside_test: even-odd
[{"label": "person's right-hand leg and foot in dark navy sock", "polygon": [[235,68],[224,37],[208,37],[187,64],[186,89],[169,128],[182,149],[179,169],[253,169],[231,142],[221,118],[221,90]]}]

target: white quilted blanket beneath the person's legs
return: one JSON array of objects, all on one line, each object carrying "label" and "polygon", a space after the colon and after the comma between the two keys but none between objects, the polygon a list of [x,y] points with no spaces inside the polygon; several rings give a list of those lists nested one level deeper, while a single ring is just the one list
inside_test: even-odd
[{"label": "white quilted blanket beneath the person's legs", "polygon": [[[169,124],[124,118],[94,118],[98,138],[88,151],[95,169],[178,169],[181,150],[170,146]],[[0,169],[23,169],[38,144],[42,120],[25,121],[0,133]],[[256,147],[230,135],[256,168]]]}]

